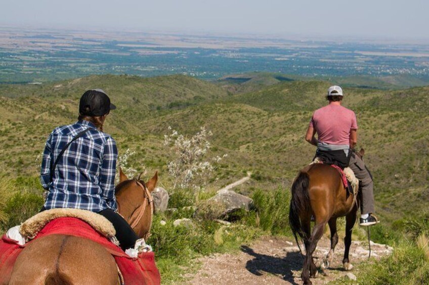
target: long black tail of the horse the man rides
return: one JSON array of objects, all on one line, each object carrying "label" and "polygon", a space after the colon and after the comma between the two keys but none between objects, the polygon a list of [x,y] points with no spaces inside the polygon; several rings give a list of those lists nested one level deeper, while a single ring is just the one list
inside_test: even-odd
[{"label": "long black tail of the horse the man rides", "polygon": [[309,180],[309,175],[301,171],[293,182],[291,189],[292,197],[289,207],[289,225],[299,251],[301,251],[301,247],[298,243],[298,237],[303,242],[308,239],[306,232],[303,230],[303,225],[299,216],[301,213],[310,211]]}]

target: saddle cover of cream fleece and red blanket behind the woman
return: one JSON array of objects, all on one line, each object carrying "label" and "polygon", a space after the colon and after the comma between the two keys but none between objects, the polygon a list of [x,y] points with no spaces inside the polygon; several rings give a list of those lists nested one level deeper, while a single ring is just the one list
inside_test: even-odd
[{"label": "saddle cover of cream fleece and red blanket behind the woman", "polygon": [[0,284],[8,284],[13,266],[21,251],[34,240],[48,235],[85,238],[102,245],[115,259],[119,272],[123,276],[122,283],[160,284],[161,277],[155,265],[154,253],[141,252],[137,258],[128,256],[117,243],[113,243],[115,231],[112,223],[105,217],[85,210],[53,210],[38,213],[22,224],[21,234],[32,238],[26,244],[19,245],[6,235],[0,239]]}]

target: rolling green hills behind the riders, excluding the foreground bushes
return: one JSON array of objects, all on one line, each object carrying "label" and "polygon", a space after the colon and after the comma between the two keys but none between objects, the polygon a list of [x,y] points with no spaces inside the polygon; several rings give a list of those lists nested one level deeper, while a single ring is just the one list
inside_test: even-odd
[{"label": "rolling green hills behind the riders, excluding the foreground bushes", "polygon": [[[249,87],[242,87],[246,83]],[[137,151],[134,165],[160,170],[166,188],[170,154],[162,142],[168,126],[188,135],[205,126],[213,132],[211,152],[228,153],[217,170],[218,180],[209,187],[219,189],[248,170],[254,179],[239,191],[288,187],[297,170],[313,158],[315,149],[304,141],[304,134],[313,110],[326,104],[330,84],[261,78],[210,83],[180,75],[146,79],[104,75],[46,85],[0,85],[0,165],[12,177],[37,176],[34,160],[50,131],[76,119],[84,90],[103,88],[118,106],[105,131],[117,140],[120,152]],[[236,89],[231,92],[231,88]],[[356,111],[359,146],[366,149],[383,218],[393,220],[425,205],[429,200],[429,87],[344,91],[345,106]]]}]

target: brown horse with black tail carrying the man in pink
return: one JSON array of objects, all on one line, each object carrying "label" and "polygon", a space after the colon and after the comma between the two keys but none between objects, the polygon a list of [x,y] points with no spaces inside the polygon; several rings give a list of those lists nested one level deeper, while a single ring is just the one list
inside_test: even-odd
[{"label": "brown horse with black tail carrying the man in pink", "polygon": [[[363,155],[361,149],[358,155]],[[298,237],[304,242],[306,256],[301,277],[304,284],[312,284],[310,277],[316,277],[318,271],[313,261],[313,252],[322,237],[326,223],[331,232],[331,249],[324,259],[322,269],[329,266],[333,252],[338,243],[336,220],[346,216],[346,246],[342,263],[345,270],[351,270],[349,250],[352,243],[352,229],[356,223],[358,201],[342,183],[337,169],[327,164],[311,164],[301,170],[292,184],[292,198],[289,208],[289,224],[295,240]],[[355,202],[356,201],[356,202]],[[311,232],[311,216],[315,218]],[[299,246],[299,244],[298,244]]]}]

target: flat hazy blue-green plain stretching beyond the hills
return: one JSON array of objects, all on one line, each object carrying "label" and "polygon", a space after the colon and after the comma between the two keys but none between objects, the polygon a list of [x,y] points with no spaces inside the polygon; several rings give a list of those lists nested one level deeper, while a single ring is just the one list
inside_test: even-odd
[{"label": "flat hazy blue-green plain stretching beyond the hills", "polygon": [[0,83],[90,74],[216,79],[245,72],[427,80],[429,45],[0,27]]}]

